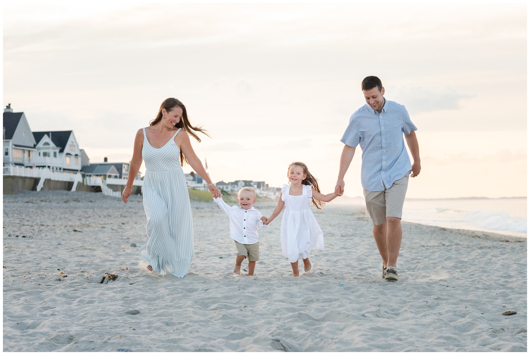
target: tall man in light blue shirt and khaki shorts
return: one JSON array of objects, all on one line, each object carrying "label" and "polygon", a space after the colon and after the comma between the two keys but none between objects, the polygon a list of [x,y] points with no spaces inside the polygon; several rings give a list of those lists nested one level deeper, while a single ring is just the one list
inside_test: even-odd
[{"label": "tall man in light blue shirt and khaki shorts", "polygon": [[[398,280],[396,263],[401,247],[401,214],[411,177],[420,174],[420,152],[417,128],[405,107],[384,98],[385,88],[376,76],[363,79],[361,89],[366,105],[350,117],[350,123],[340,140],[344,148],[340,157],[339,177],[335,190],[344,192],[344,176],[355,148],[360,144],[361,184],[366,209],[374,223],[374,239],[383,258],[383,278]],[[403,134],[414,159],[411,166]]]}]

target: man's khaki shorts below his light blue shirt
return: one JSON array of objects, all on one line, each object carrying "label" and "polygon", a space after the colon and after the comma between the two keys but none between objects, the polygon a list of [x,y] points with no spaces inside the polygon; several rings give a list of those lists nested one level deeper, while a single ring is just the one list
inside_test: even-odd
[{"label": "man's khaki shorts below his light blue shirt", "polygon": [[409,185],[409,174],[395,180],[391,187],[384,191],[364,189],[366,210],[375,225],[386,222],[386,217],[398,217],[403,214],[403,202]]}]

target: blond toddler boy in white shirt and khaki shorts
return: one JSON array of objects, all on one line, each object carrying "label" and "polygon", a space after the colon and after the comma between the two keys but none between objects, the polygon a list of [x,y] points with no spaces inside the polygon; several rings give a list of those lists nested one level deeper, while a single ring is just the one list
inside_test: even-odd
[{"label": "blond toddler boy in white shirt and khaki shorts", "polygon": [[260,243],[258,242],[258,225],[269,227],[261,221],[261,213],[252,207],[256,203],[256,192],[252,187],[243,187],[237,193],[239,206],[228,206],[223,198],[214,198],[230,219],[230,236],[235,241],[237,257],[235,258],[234,274],[241,275],[241,263],[249,259],[249,276],[254,275],[256,261],[260,260]]}]

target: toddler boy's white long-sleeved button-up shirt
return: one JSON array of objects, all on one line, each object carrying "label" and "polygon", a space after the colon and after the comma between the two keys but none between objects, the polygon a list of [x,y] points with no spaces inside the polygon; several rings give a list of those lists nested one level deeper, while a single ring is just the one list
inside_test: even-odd
[{"label": "toddler boy's white long-sleeved button-up shirt", "polygon": [[230,236],[236,242],[241,244],[254,244],[258,241],[258,226],[268,228],[268,224],[261,221],[262,214],[255,210],[254,207],[245,210],[240,205],[228,206],[222,197],[214,198],[230,219]]}]

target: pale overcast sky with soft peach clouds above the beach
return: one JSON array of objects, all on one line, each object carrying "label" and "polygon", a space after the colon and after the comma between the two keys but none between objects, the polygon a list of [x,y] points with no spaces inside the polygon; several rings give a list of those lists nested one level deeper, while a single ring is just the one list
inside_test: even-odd
[{"label": "pale overcast sky with soft peach clouds above the beach", "polygon": [[281,186],[299,160],[330,193],[368,75],[418,127],[408,197],[526,196],[525,4],[4,5],[4,105],[91,162],[128,161],[176,97],[213,136],[194,147],[214,181]]}]

